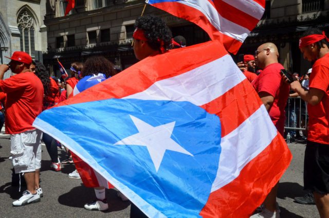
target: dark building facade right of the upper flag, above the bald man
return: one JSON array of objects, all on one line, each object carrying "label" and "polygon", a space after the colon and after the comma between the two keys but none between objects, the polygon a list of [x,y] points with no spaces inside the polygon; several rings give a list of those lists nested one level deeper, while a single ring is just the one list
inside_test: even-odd
[{"label": "dark building facade right of the upper flag, above the bald man", "polygon": [[311,27],[329,34],[328,21],[329,0],[266,1],[263,19],[249,34],[237,55],[253,54],[262,43],[273,42],[279,48],[280,63],[286,69],[303,75],[312,66],[303,59],[298,48],[299,38]]}]

